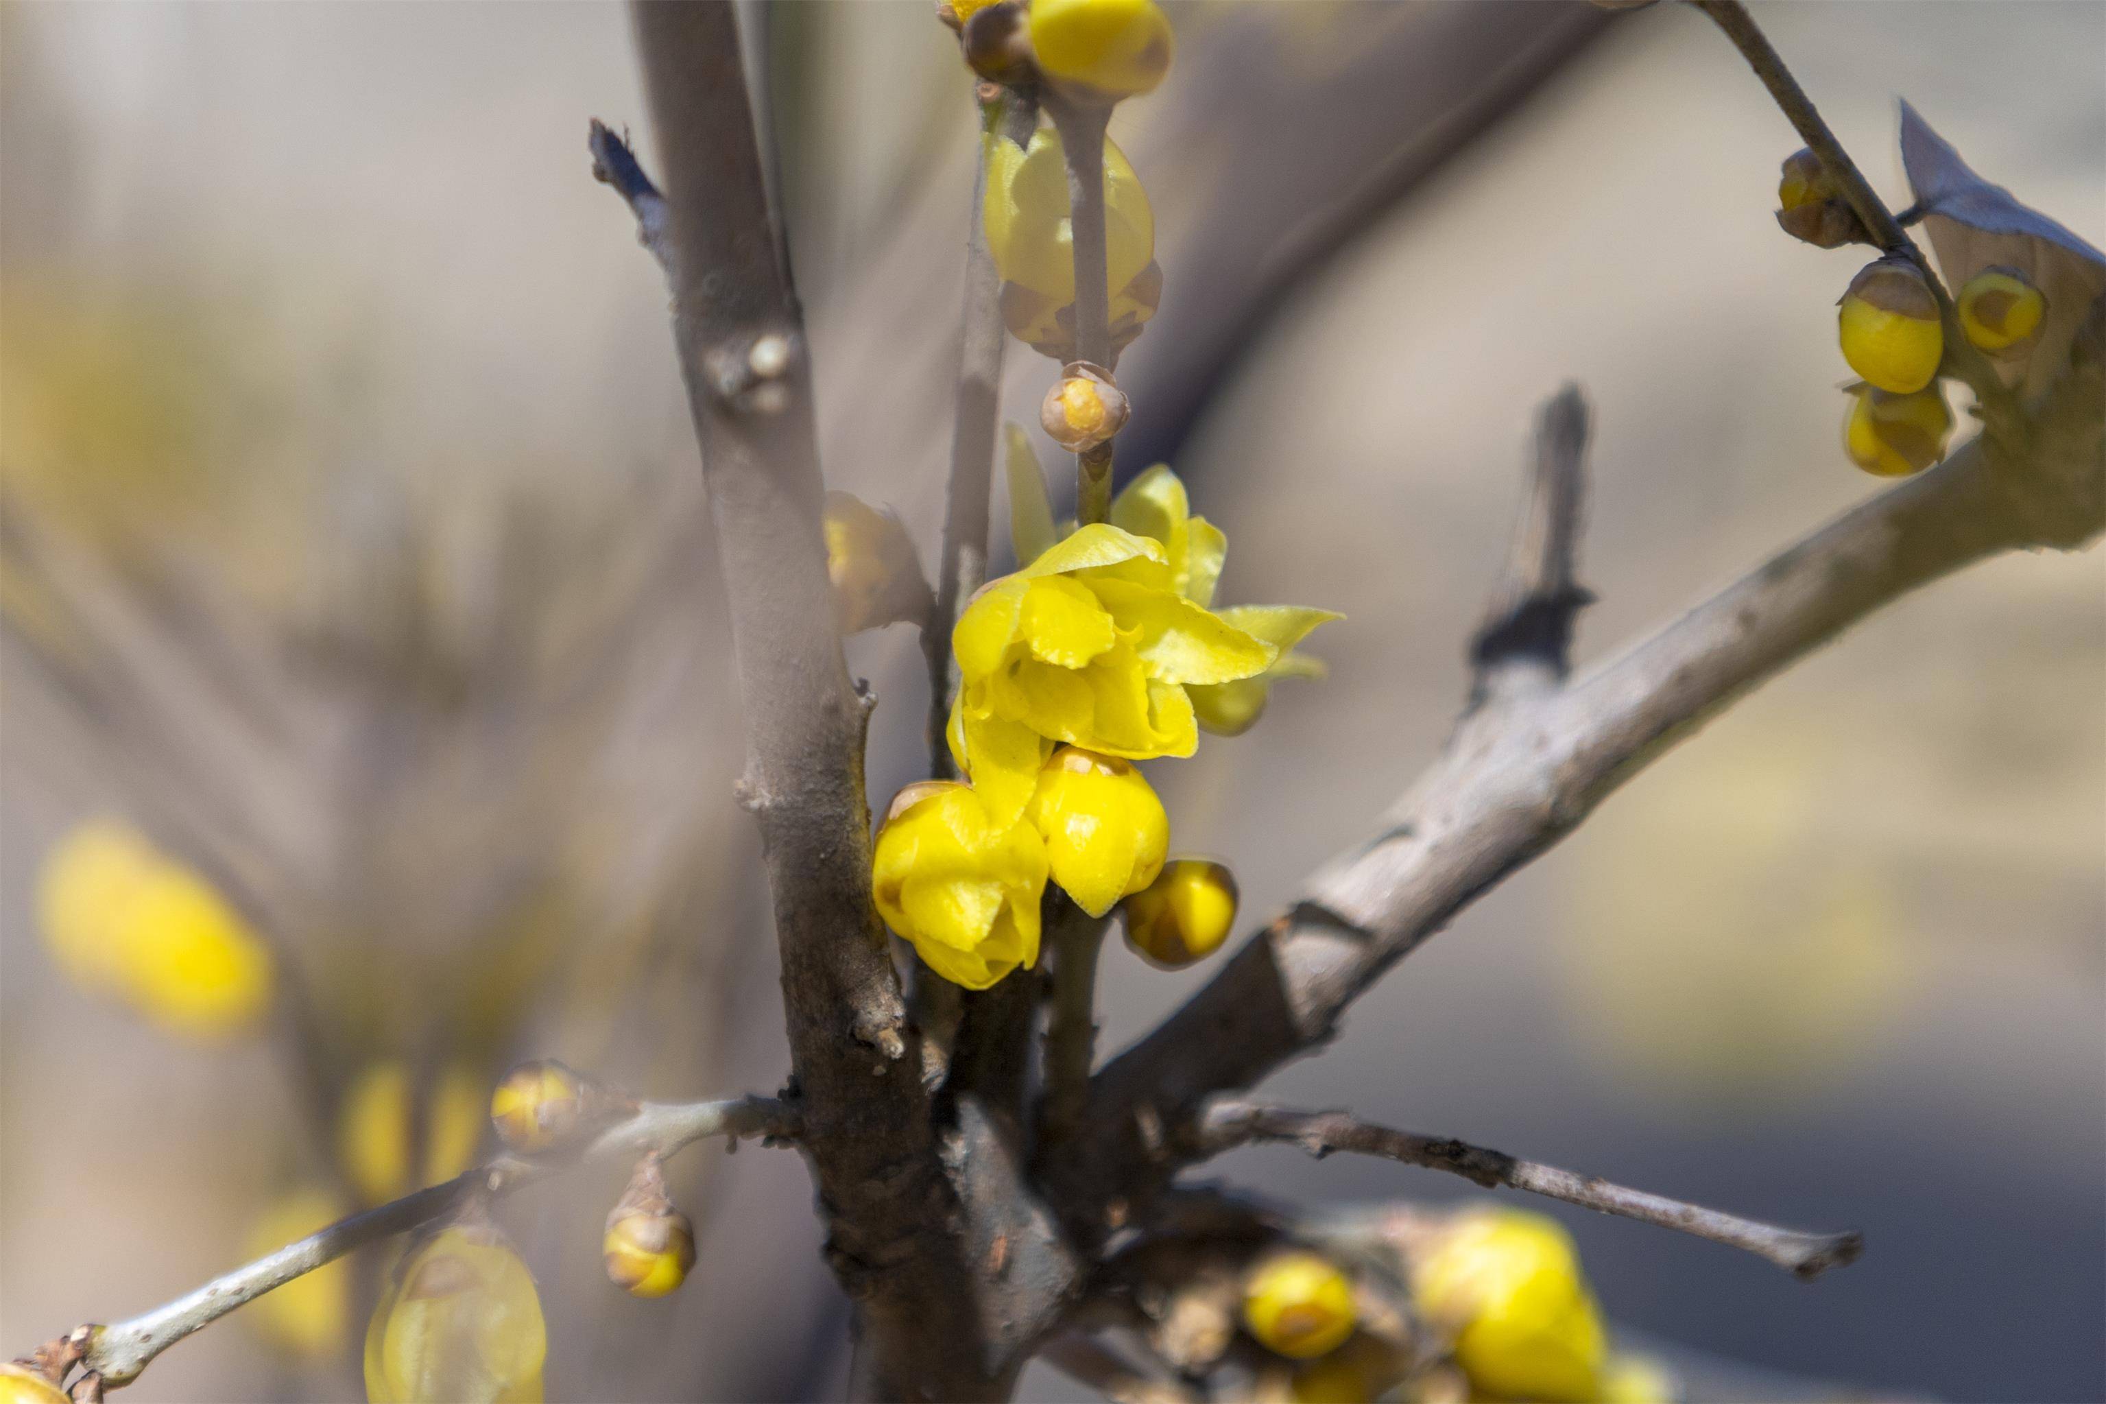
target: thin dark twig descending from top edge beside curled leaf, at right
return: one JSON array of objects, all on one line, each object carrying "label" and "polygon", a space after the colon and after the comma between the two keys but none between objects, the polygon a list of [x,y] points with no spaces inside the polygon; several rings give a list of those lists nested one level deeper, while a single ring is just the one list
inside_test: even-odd
[{"label": "thin dark twig descending from top edge beside curled leaf, at right", "polygon": [[1695,8],[1704,11],[1718,29],[1733,40],[1733,46],[1748,59],[1748,67],[1754,76],[1763,80],[1769,88],[1771,99],[1775,99],[1777,109],[1799,128],[1799,137],[1807,143],[1807,149],[1820,156],[1822,166],[1843,189],[1843,198],[1849,202],[1851,210],[1872,234],[1872,240],[1881,250],[1889,255],[1902,255],[1912,261],[1921,272],[1925,282],[1931,286],[1931,295],[1938,299],[1938,314],[1944,322],[1946,341],[1946,366],[1967,381],[1973,389],[1975,404],[1982,410],[1982,421],[1988,425],[1990,434],[2009,450],[2018,453],[2024,448],[2026,419],[2020,413],[2018,398],[1996,375],[1996,368],[1988,362],[1969,339],[1959,320],[1959,307],[1952,305],[1952,295],[1946,284],[1938,278],[1938,269],[1931,261],[1923,257],[1916,242],[1908,238],[1902,221],[1893,217],[1887,202],[1879,198],[1872,183],[1864,179],[1857,162],[1849,158],[1843,143],[1822,120],[1822,114],[1813,107],[1813,99],[1807,91],[1799,86],[1792,78],[1792,69],[1784,65],[1784,59],[1771,46],[1769,36],[1763,27],[1754,23],[1754,15],[1742,0],[1689,0]]}]

